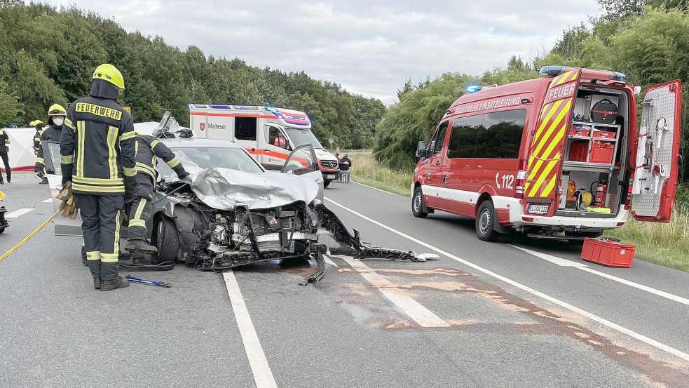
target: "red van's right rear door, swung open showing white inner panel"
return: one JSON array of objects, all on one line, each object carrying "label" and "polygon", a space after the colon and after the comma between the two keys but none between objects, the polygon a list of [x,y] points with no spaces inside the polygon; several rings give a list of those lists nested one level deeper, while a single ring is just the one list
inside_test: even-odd
[{"label": "red van's right rear door, swung open showing white inner panel", "polygon": [[681,159],[681,107],[679,80],[651,86],[643,98],[632,186],[636,220],[670,222]]}]

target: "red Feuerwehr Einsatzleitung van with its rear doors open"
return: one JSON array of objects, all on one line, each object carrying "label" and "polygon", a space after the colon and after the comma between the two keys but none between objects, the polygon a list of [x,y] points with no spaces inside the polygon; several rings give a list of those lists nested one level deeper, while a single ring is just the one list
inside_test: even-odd
[{"label": "red Feuerwehr Einsatzleitung van with its rear doors open", "polygon": [[[479,239],[516,229],[583,239],[669,222],[678,179],[681,82],[640,88],[618,72],[546,66],[543,78],[462,95],[420,158],[411,210],[476,219]],[[480,87],[475,89],[480,89]]]}]

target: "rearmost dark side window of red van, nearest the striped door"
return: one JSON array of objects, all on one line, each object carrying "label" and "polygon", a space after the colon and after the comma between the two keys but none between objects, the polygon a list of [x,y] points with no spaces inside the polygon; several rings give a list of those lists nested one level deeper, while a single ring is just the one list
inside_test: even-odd
[{"label": "rearmost dark side window of red van, nearest the striped door", "polygon": [[479,133],[475,157],[518,159],[526,109],[493,112],[483,116],[485,129]]}]

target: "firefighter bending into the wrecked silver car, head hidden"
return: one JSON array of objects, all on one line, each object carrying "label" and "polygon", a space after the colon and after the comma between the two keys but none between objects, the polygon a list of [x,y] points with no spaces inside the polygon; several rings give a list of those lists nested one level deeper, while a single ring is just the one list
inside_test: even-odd
[{"label": "firefighter bending into the wrecked silver car, head hidden", "polygon": [[129,210],[129,229],[127,246],[130,253],[156,253],[156,247],[146,241],[146,220],[151,216],[151,199],[156,184],[156,156],[163,159],[168,166],[182,178],[189,175],[179,163],[177,156],[153,136],[137,135],[137,194]]}]

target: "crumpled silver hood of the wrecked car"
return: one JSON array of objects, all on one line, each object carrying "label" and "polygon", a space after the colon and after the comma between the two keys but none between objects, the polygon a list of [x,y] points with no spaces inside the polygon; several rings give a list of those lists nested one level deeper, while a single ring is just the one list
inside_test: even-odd
[{"label": "crumpled silver hood of the wrecked car", "polygon": [[207,206],[234,210],[275,208],[296,201],[311,203],[318,185],[311,179],[291,174],[245,173],[229,168],[206,168],[193,174],[191,189]]}]

